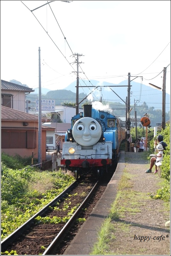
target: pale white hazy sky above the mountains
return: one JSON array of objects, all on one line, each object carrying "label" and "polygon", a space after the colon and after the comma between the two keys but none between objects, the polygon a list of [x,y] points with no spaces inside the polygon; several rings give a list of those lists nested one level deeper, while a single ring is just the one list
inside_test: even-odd
[{"label": "pale white hazy sky above the mountains", "polygon": [[45,3],[0,1],[1,79],[37,88],[40,47],[44,88],[63,89],[75,81],[73,54],[79,53],[80,79],[100,83],[118,84],[130,72],[143,76],[145,85],[162,87],[167,67],[170,94],[170,0],[53,1],[34,10]]}]

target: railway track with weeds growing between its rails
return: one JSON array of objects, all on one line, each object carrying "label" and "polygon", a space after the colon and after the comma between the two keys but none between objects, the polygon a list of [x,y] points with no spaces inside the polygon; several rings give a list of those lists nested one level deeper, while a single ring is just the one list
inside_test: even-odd
[{"label": "railway track with weeds growing between its rails", "polygon": [[[80,214],[84,216],[85,207],[98,186],[99,181],[92,180],[92,177],[74,181],[63,193],[5,238],[1,242],[1,252],[14,250],[18,255],[59,255],[64,250],[60,247],[65,248],[68,243],[69,238],[64,237],[76,225]],[[102,187],[105,189],[106,184]],[[80,218],[77,226],[81,226],[82,222]]]}]

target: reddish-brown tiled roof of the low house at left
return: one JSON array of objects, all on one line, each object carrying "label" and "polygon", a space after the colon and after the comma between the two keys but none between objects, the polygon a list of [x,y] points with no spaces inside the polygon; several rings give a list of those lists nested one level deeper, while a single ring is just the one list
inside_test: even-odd
[{"label": "reddish-brown tiled roof of the low house at left", "polygon": [[[22,112],[13,108],[7,108],[4,106],[1,106],[1,120],[28,120],[28,121],[38,121],[39,117],[28,114],[26,112]],[[46,121],[46,118],[42,117],[42,121]]]}]

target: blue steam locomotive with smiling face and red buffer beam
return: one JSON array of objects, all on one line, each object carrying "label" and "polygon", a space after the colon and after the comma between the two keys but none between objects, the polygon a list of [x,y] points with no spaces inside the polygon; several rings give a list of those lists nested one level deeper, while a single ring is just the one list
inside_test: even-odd
[{"label": "blue steam locomotive with smiling face and red buffer beam", "polygon": [[90,171],[100,176],[117,164],[120,143],[125,137],[125,129],[116,116],[84,105],[83,112],[71,119],[61,164],[75,173],[75,179]]}]

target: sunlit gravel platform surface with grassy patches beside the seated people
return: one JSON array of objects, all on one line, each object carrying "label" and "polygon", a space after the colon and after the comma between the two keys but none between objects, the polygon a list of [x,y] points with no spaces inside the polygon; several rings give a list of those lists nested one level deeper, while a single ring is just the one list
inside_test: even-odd
[{"label": "sunlit gravel platform surface with grassy patches beside the seated people", "polygon": [[165,226],[170,220],[170,204],[150,198],[156,194],[162,179],[154,174],[154,167],[152,173],[145,173],[149,161],[140,157],[143,154],[125,153],[125,170],[135,200],[128,199],[122,217],[113,221],[115,238],[111,240],[110,251],[115,255],[170,255],[170,226]]}]

